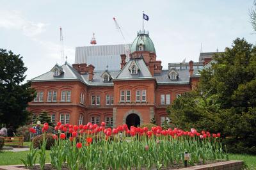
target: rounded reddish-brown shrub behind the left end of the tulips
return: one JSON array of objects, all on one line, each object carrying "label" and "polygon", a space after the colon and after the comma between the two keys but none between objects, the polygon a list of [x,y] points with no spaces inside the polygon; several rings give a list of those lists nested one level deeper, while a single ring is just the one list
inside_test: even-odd
[{"label": "rounded reddish-brown shrub behind the left end of the tulips", "polygon": [[[52,138],[54,134],[45,134],[45,140],[47,140],[45,149],[46,150],[51,150],[51,146],[55,143],[55,140]],[[43,134],[38,135],[34,137],[33,139],[33,147],[34,148],[40,148],[40,143],[43,143]]]}]

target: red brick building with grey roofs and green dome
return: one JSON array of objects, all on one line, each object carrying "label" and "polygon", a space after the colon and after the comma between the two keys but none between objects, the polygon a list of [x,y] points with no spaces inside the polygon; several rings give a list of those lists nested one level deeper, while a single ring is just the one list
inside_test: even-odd
[{"label": "red brick building with grey roofs and green dome", "polygon": [[[46,111],[52,121],[81,124],[91,121],[116,127],[167,119],[166,107],[198,82],[204,63],[174,63],[162,69],[148,34],[138,33],[130,56],[122,54],[120,70],[94,71],[93,65],[68,63],[31,80],[37,97],[29,103],[33,114]],[[129,57],[129,61],[127,61]],[[126,62],[127,61],[127,62]],[[208,61],[208,60],[207,60]]]}]

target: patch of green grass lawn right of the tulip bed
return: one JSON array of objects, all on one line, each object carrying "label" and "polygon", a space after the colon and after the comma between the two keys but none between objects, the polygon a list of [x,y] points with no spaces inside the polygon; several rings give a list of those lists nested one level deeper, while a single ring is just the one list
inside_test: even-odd
[{"label": "patch of green grass lawn right of the tulip bed", "polygon": [[256,169],[256,155],[228,154],[230,160],[243,160],[247,169]]}]

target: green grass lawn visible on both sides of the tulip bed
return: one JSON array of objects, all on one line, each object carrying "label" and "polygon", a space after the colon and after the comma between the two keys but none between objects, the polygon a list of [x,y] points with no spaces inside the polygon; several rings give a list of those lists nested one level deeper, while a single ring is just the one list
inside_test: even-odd
[{"label": "green grass lawn visible on both sides of the tulip bed", "polygon": [[[20,158],[24,159],[26,153],[28,153],[28,151],[0,151],[0,166],[22,164]],[[46,162],[48,163],[50,162],[49,153],[50,151],[46,151]],[[256,169],[256,155],[228,154],[228,156],[230,160],[243,160],[248,167],[247,169]]]}]

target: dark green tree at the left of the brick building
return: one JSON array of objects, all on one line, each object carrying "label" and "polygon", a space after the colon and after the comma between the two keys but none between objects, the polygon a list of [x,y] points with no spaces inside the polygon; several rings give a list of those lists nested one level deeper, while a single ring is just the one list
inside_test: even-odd
[{"label": "dark green tree at the left of the brick building", "polygon": [[26,75],[22,57],[0,49],[0,123],[19,127],[28,121],[28,102],[35,98],[30,82],[21,84]]}]

